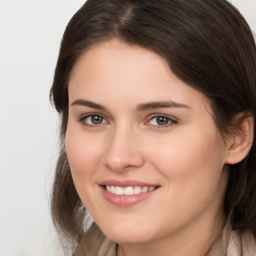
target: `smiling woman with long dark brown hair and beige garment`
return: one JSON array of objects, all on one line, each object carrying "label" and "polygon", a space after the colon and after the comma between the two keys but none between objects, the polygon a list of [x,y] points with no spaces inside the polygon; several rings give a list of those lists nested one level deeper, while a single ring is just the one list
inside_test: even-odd
[{"label": "smiling woman with long dark brown hair and beige garment", "polygon": [[225,0],[85,2],[51,88],[52,217],[74,255],[256,253],[255,70]]}]

